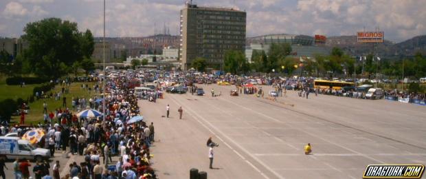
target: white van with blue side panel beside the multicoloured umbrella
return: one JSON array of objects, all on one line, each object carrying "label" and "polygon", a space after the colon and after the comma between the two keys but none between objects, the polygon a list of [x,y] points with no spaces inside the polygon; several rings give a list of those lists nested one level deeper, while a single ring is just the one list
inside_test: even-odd
[{"label": "white van with blue side panel beside the multicoloured umbrella", "polygon": [[49,149],[36,148],[19,137],[0,137],[0,158],[42,161],[50,158]]}]

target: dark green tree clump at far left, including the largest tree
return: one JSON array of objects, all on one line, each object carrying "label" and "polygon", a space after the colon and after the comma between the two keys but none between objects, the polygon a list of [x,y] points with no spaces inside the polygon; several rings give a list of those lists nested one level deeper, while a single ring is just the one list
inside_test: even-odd
[{"label": "dark green tree clump at far left, including the largest tree", "polygon": [[79,68],[86,73],[95,69],[91,60],[93,35],[90,30],[79,32],[77,23],[49,18],[27,23],[23,32],[21,39],[27,48],[13,61],[6,57],[10,54],[1,52],[1,73],[58,78],[76,73]]}]

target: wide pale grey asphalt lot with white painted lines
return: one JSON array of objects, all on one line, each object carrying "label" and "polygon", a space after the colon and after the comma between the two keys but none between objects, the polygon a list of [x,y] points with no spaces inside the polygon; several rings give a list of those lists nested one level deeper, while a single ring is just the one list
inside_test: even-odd
[{"label": "wide pale grey asphalt lot with white painted lines", "polygon": [[[153,167],[159,178],[362,178],[370,164],[426,163],[426,107],[288,91],[277,101],[229,96],[234,86],[200,85],[205,96],[166,94],[139,101],[155,125]],[[216,94],[212,97],[210,90]],[[267,92],[270,87],[263,87]],[[170,118],[166,105],[170,105]],[[183,107],[179,120],[178,107]],[[216,169],[208,169],[212,136]],[[304,155],[311,143],[313,155]]]}]

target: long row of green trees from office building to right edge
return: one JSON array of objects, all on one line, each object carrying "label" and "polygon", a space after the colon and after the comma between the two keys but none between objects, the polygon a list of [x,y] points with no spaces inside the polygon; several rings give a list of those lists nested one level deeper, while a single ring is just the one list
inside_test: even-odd
[{"label": "long row of green trees from office building to right edge", "polygon": [[[290,56],[291,45],[288,43],[272,43],[269,52],[254,50],[251,63],[245,54],[236,50],[225,52],[223,70],[232,74],[245,74],[247,72],[271,73],[279,72],[288,75],[298,70],[304,76],[350,77],[354,73],[366,78],[375,78],[382,74],[388,78],[401,78],[408,76],[421,78],[426,76],[426,58],[417,53],[411,59],[390,61],[379,59],[372,54],[359,60],[345,54],[340,48],[333,48],[329,55],[315,54],[313,57],[296,58]],[[208,66],[205,59],[197,58],[192,61],[192,67],[203,71]],[[381,76],[383,77],[383,76]]]}]

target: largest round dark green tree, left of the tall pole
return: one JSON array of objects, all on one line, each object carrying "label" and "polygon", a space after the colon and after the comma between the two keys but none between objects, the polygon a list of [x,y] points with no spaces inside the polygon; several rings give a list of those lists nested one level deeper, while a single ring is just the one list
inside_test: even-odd
[{"label": "largest round dark green tree, left of the tall pole", "polygon": [[43,19],[27,23],[23,32],[22,39],[28,45],[24,57],[38,76],[63,76],[67,67],[82,61],[85,53],[90,52],[87,50],[90,45],[82,45],[84,38],[78,32],[77,23],[58,18]]}]

